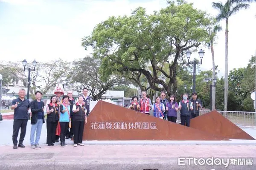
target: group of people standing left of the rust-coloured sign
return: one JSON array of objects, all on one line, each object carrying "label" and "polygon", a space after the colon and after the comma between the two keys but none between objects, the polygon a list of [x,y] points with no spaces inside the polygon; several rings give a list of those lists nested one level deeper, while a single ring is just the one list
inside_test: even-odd
[{"label": "group of people standing left of the rust-coloured sign", "polygon": [[[31,110],[31,130],[30,144],[31,149],[41,148],[39,140],[41,137],[42,125],[45,123],[44,102],[41,100],[41,91],[35,92],[36,99],[29,102],[25,98],[25,89],[19,90],[19,97],[12,101],[11,109],[14,109],[13,122],[13,149],[25,147],[23,140],[26,135],[26,126],[29,119],[28,111]],[[54,146],[55,142],[61,141],[61,147],[67,146],[65,139],[73,137],[74,147],[84,146],[83,131],[87,123],[87,116],[90,113],[90,98],[87,95],[88,89],[84,88],[77,101],[72,97],[72,91],[64,95],[61,85],[58,85],[50,98],[50,103],[46,105],[47,113],[47,145]],[[20,130],[19,143],[17,141]],[[35,135],[36,133],[36,135]]]}]

